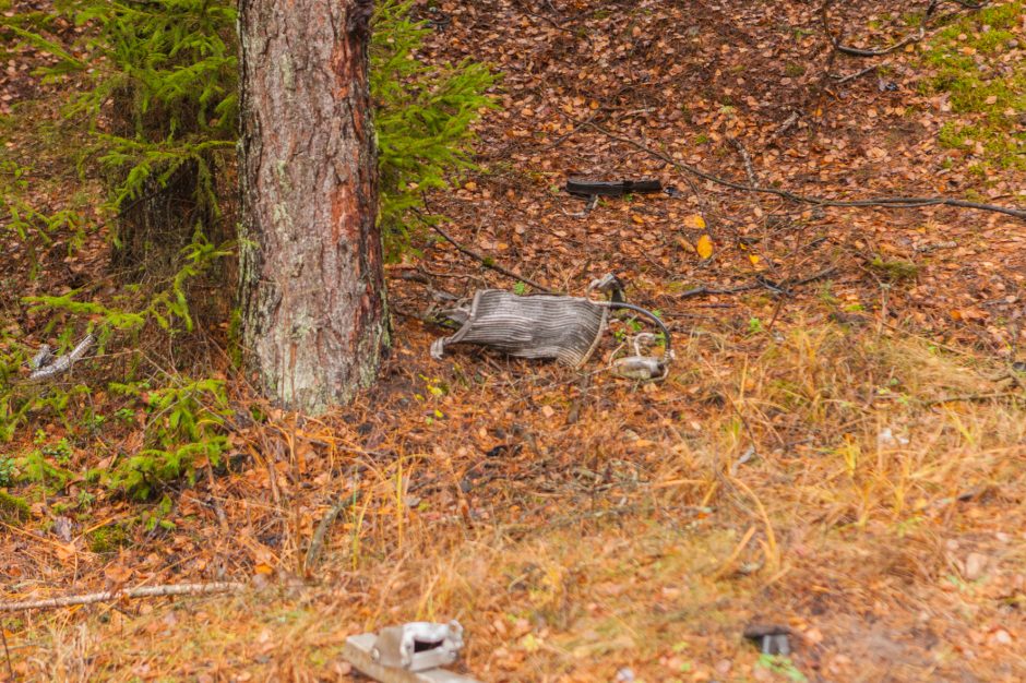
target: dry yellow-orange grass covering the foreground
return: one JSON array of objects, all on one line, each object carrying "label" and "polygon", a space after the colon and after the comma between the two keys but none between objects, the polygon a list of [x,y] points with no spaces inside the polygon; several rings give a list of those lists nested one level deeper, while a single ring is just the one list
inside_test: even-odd
[{"label": "dry yellow-orange grass covering the foreground", "polygon": [[[747,347],[695,334],[663,386],[598,376],[572,426],[565,379],[521,386],[524,406],[501,382],[440,378],[449,422],[367,469],[319,584],[285,572],[238,599],[103,611],[51,625],[16,663],[333,680],[347,633],[456,616],[487,681],[1021,680],[1022,396],[981,398],[1005,391],[987,379],[999,368],[887,329],[779,329]],[[461,492],[481,462],[466,445],[513,409],[536,445]],[[751,621],[792,628],[792,661],[760,659]]]}]

